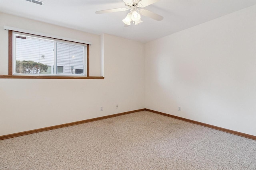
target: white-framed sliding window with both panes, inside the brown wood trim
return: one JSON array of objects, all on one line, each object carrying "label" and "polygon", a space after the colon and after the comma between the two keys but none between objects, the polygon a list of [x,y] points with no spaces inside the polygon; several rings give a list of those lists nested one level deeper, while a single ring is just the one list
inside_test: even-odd
[{"label": "white-framed sliding window with both panes, inside the brown wood trim", "polygon": [[12,39],[13,75],[87,76],[86,44],[18,32]]}]

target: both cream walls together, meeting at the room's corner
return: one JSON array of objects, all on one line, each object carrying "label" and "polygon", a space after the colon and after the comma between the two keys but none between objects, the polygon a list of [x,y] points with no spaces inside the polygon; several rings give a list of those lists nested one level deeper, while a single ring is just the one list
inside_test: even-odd
[{"label": "both cream walls together, meeting at the room's corner", "polygon": [[[1,27],[92,42],[90,75],[105,77],[0,79],[0,135],[145,107],[256,135],[255,8],[145,45],[0,13]],[[8,34],[0,29],[0,74],[7,63]]]}]

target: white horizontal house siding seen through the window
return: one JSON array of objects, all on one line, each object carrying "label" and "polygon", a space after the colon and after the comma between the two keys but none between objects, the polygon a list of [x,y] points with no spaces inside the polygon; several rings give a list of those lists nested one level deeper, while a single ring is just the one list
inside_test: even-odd
[{"label": "white horizontal house siding seen through the window", "polygon": [[[42,74],[54,73],[54,41],[16,35],[16,60],[34,61],[46,64],[48,70]],[[84,51],[82,45],[56,42],[57,74],[84,73]]]}]

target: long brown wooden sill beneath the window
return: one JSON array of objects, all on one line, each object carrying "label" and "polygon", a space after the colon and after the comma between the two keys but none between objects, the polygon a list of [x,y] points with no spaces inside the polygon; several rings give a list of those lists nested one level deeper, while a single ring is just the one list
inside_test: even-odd
[{"label": "long brown wooden sill beneath the window", "polygon": [[104,77],[84,77],[84,76],[17,76],[0,75],[0,78],[36,78],[36,79],[104,79]]}]

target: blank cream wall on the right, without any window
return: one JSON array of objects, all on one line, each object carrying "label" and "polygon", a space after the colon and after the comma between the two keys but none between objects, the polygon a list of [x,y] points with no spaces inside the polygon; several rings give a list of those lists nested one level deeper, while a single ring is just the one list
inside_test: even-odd
[{"label": "blank cream wall on the right, without any window", "polygon": [[147,43],[145,63],[146,108],[256,135],[256,6]]}]

